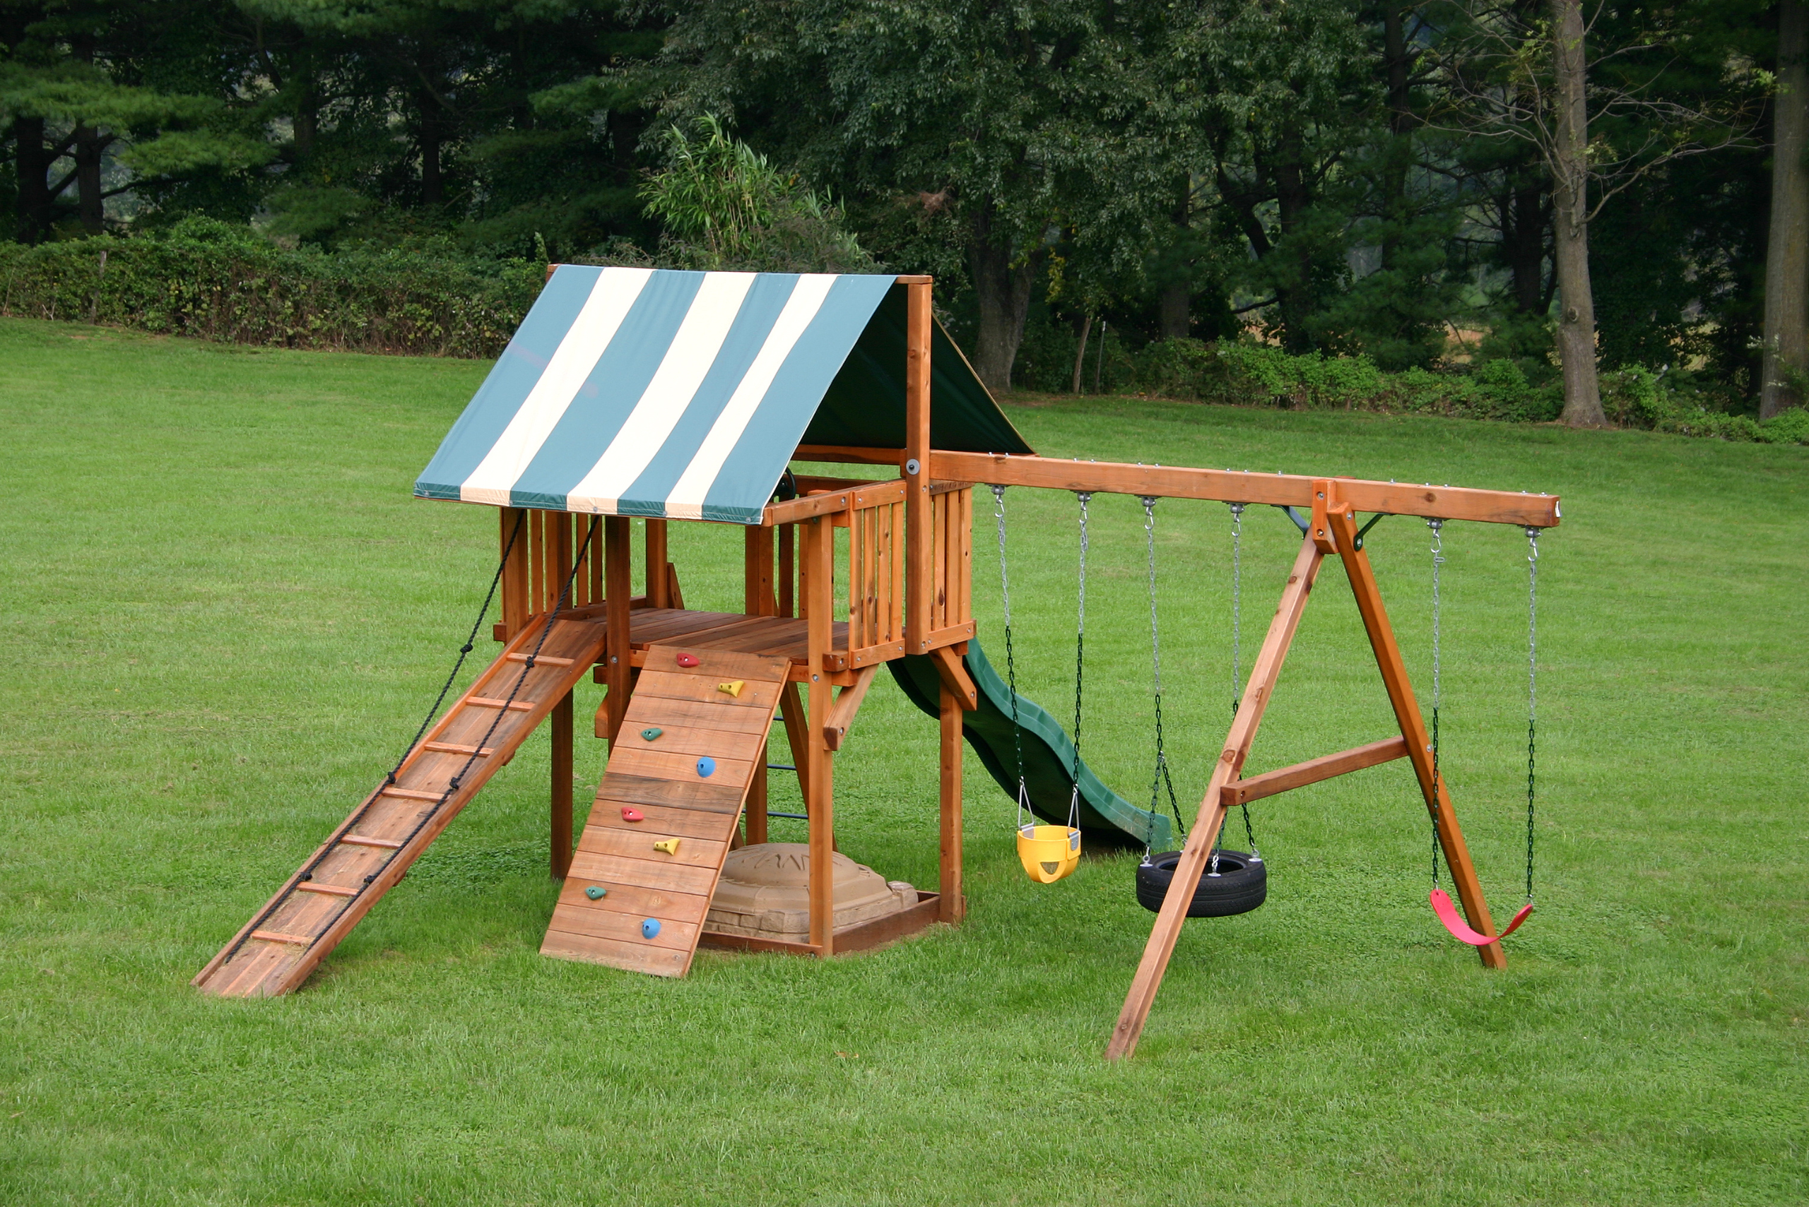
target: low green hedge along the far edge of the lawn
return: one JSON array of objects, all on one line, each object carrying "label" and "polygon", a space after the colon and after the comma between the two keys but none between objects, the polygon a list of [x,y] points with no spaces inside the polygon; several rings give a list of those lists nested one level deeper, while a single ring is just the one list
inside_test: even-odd
[{"label": "low green hedge along the far edge of the lawn", "polygon": [[[103,260],[105,257],[105,260]],[[449,246],[286,249],[244,226],[192,217],[130,239],[0,244],[0,314],[103,322],[232,343],[416,356],[503,351],[545,280],[541,260],[490,260]],[[1075,332],[1033,323],[1018,383],[1066,392]],[[1100,352],[1103,351],[1103,360]],[[1558,383],[1511,360],[1474,370],[1382,372],[1368,356],[1326,358],[1246,342],[1163,340],[1129,351],[1116,332],[1087,349],[1082,381],[1109,392],[1297,410],[1377,410],[1550,421]],[[1646,369],[1603,374],[1621,426],[1729,441],[1809,444],[1809,408],[1767,423],[1719,410]]]}]

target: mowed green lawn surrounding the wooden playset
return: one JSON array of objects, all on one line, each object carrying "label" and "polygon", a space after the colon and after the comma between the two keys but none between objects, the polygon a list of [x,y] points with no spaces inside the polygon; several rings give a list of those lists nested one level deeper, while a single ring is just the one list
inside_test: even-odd
[{"label": "mowed green lawn surrounding the wooden playset", "polygon": [[[1136,856],[1029,884],[973,757],[959,931],[825,963],[702,954],[678,983],[543,959],[539,735],[302,992],[201,997],[195,970],[414,734],[483,596],[494,513],[409,490],[485,369],[0,322],[0,1202],[1809,1198],[1802,448],[1009,407],[1047,455],[1563,495],[1539,571],[1539,911],[1505,972],[1425,905],[1404,763],[1252,809],[1268,903],[1187,925],[1120,1064],[1100,1052],[1152,920]],[[1075,501],[1008,506],[1020,685],[1066,719]],[[1299,537],[1274,510],[1245,529],[1248,669]],[[673,544],[693,607],[738,607],[736,531]],[[1425,701],[1427,529],[1384,520],[1369,549]],[[1525,537],[1453,524],[1445,551],[1445,772],[1505,918]],[[1160,504],[1156,555],[1192,820],[1228,721],[1227,508]],[[1085,755],[1147,800],[1134,499],[1094,499],[1091,571]],[[1331,562],[1252,770],[1388,732]],[[601,766],[582,737],[581,809]],[[836,788],[843,851],[935,884],[935,725],[885,676]],[[774,797],[796,806],[794,786]]]}]

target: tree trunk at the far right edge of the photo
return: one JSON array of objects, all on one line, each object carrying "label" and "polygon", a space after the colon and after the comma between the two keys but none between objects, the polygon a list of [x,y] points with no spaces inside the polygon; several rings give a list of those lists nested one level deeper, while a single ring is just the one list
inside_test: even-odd
[{"label": "tree trunk at the far right edge of the photo", "polygon": [[1766,354],[1758,417],[1802,407],[1809,372],[1809,4],[1784,0],[1778,11],[1776,146],[1771,152],[1771,240],[1766,248]]}]

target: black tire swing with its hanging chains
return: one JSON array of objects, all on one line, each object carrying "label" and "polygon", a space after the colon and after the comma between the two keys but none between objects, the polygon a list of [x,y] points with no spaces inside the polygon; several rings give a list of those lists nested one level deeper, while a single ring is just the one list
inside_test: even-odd
[{"label": "black tire swing with its hanging chains", "polygon": [[[1174,799],[1174,781],[1169,777],[1169,753],[1163,748],[1161,737],[1161,638],[1156,625],[1156,499],[1154,495],[1143,495],[1143,544],[1149,551],[1149,650],[1151,667],[1154,676],[1154,699],[1156,699],[1156,773],[1149,786],[1149,811],[1154,817],[1158,806],[1161,804],[1161,791],[1169,791],[1169,809],[1174,813],[1176,833],[1185,838],[1187,826],[1181,820],[1181,806]],[[1232,506],[1232,716],[1237,716],[1239,701],[1239,605],[1243,598],[1243,511],[1245,504],[1234,502]],[[1248,914],[1268,900],[1268,864],[1263,862],[1263,855],[1255,847],[1255,831],[1250,826],[1250,806],[1243,806],[1245,815],[1245,835],[1250,840],[1248,851],[1225,851],[1219,846],[1212,849],[1212,860],[1207,865],[1203,876],[1199,876],[1199,885],[1194,889],[1194,900],[1187,903],[1189,918],[1230,918],[1234,914]],[[1223,833],[1223,831],[1221,831]],[[1174,884],[1174,869],[1181,862],[1179,851],[1161,851],[1160,855],[1151,853],[1149,840],[1154,837],[1154,824],[1151,826],[1151,835],[1143,840],[1143,862],[1136,867],[1136,900],[1138,905],[1151,911],[1152,914],[1161,912],[1161,903],[1169,896],[1169,885]]]}]

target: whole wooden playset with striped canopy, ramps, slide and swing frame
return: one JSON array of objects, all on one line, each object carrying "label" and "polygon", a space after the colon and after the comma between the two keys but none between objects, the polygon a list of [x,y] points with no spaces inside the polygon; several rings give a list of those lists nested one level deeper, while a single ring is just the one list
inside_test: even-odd
[{"label": "whole wooden playset with striped canopy, ramps, slide and swing frame", "polygon": [[[1037,457],[935,323],[930,289],[926,276],[550,269],[541,300],[416,484],[427,499],[497,508],[501,622],[492,636],[503,652],[438,719],[429,714],[393,772],[195,985],[219,996],[295,990],[546,719],[550,864],[564,887],[541,950],[566,959],[684,976],[700,945],[832,956],[959,923],[964,739],[993,779],[1042,819],[1066,822],[1076,849],[1082,831],[1127,846],[1167,842],[1167,817],[1098,784],[1058,725],[1026,721],[1040,710],[1004,688],[980,654],[977,482],[1274,504],[1304,524],[1109,1057],[1136,1046],[1227,809],[1391,759],[1411,761],[1482,959],[1501,967],[1357,515],[1543,529],[1558,524],[1558,499]],[[865,473],[794,475],[792,461]],[[668,555],[671,522],[743,528],[740,611],[686,607]],[[1328,557],[1351,582],[1400,734],[1245,777]],[[834,763],[883,665],[941,725],[939,885],[914,907],[838,929]],[[586,672],[606,685],[593,732],[610,753],[573,835],[572,690]],[[767,840],[774,723],[809,826],[803,943],[707,927],[731,847]],[[1017,743],[1011,773],[1000,741]]]}]

